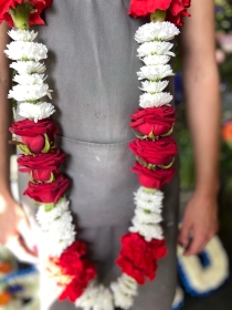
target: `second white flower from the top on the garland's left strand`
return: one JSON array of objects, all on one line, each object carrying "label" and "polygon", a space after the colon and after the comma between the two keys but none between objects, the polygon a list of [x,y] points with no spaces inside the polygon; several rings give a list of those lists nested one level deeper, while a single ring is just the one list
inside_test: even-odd
[{"label": "second white flower from the top on the garland's left strand", "polygon": [[13,41],[7,48],[4,53],[12,60],[40,61],[48,58],[48,49],[41,43]]}]

